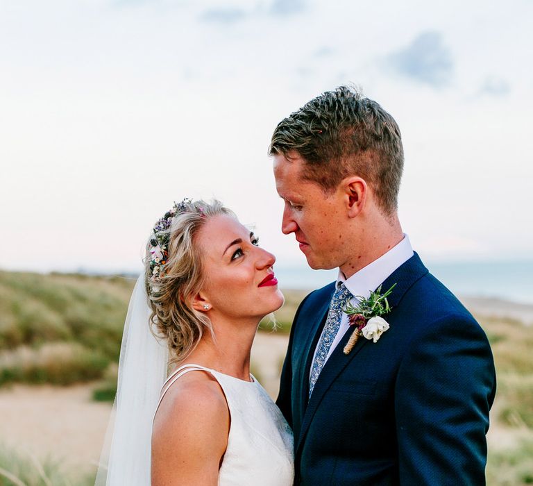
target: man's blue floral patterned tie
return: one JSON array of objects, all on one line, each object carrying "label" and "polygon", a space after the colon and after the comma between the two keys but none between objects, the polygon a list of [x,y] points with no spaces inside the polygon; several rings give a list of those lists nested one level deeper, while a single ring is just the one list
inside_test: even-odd
[{"label": "man's blue floral patterned tie", "polygon": [[352,294],[350,294],[350,291],[346,288],[344,283],[341,283],[337,290],[335,290],[335,294],[333,294],[330,310],[328,312],[328,319],[325,321],[324,330],[320,338],[319,347],[316,349],[316,355],[311,369],[311,378],[309,380],[310,398],[316,380],[319,378],[319,374],[324,366],[325,358],[330,351],[331,344],[333,340],[335,340],[335,336],[341,326],[342,308],[351,296]]}]

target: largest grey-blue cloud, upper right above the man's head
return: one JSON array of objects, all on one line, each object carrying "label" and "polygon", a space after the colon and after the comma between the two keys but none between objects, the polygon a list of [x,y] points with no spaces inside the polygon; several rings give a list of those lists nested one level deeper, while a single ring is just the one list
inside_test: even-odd
[{"label": "largest grey-blue cloud, upper right above the man's head", "polygon": [[387,64],[398,74],[421,83],[441,87],[450,82],[453,62],[438,32],[425,32],[405,49],[387,56]]}]

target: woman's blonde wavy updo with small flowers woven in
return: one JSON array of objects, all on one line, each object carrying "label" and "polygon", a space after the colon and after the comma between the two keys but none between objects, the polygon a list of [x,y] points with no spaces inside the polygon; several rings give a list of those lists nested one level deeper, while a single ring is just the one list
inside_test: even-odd
[{"label": "woman's blonde wavy updo with small flowers woven in", "polygon": [[219,215],[237,218],[216,200],[174,203],[155,224],[146,245],[150,324],[156,335],[167,340],[171,363],[185,360],[205,330],[212,333],[207,315],[192,308],[192,297],[201,290],[205,278],[197,236],[208,219]]}]

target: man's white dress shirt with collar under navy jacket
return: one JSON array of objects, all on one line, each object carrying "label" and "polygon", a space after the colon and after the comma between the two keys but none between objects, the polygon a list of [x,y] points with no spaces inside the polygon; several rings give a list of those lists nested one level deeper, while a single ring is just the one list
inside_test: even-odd
[{"label": "man's white dress shirt with collar under navy jacket", "polygon": [[[341,272],[341,269],[339,269],[339,276],[337,277],[337,283],[335,285],[338,287],[340,283],[344,283],[346,288],[353,295],[353,298],[350,299],[350,303],[352,305],[357,305],[357,302],[360,300],[357,299],[357,297],[368,299],[371,292],[376,290],[384,282],[384,280],[386,280],[387,277],[392,274],[394,270],[407,262],[407,260],[409,260],[409,258],[411,258],[413,255],[414,253],[411,243],[409,242],[409,237],[404,234],[403,240],[400,241],[396,246],[393,246],[389,251],[387,251],[387,253],[381,255],[378,260],[374,260],[373,262],[369,263],[369,265],[366,265],[366,267],[355,272],[355,274],[353,274],[350,278],[346,279],[344,274]],[[384,292],[387,291],[387,289],[382,290]],[[328,361],[331,353],[337,347],[337,344],[339,344],[339,341],[346,334],[346,331],[349,327],[350,323],[348,315],[343,313],[341,326],[339,327],[337,335],[335,335],[335,340],[333,340],[331,344],[330,351],[328,352],[325,361]],[[319,345],[317,343],[316,349],[318,349],[318,347]],[[314,350],[312,362],[314,362],[316,349]],[[311,370],[312,369],[313,367],[311,365]]]}]

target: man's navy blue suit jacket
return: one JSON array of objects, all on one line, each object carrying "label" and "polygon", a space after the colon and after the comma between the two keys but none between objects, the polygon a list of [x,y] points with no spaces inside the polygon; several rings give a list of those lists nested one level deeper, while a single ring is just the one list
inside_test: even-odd
[{"label": "man's navy blue suit jacket", "polygon": [[496,374],[487,337],[415,253],[382,285],[392,310],[376,343],[339,342],[309,373],[334,283],[309,294],[291,329],[278,406],[294,430],[296,484],[484,485]]}]

